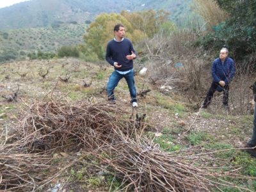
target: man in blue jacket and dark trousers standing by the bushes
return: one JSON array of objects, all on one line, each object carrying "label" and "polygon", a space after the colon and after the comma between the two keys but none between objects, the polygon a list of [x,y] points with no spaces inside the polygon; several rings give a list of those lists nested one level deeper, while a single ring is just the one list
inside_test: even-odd
[{"label": "man in blue jacket and dark trousers standing by the bushes", "polygon": [[211,72],[213,81],[202,104],[202,108],[207,108],[216,90],[223,90],[223,107],[228,109],[229,83],[233,79],[235,71],[234,60],[228,57],[228,49],[222,48],[220,58],[212,62]]}]

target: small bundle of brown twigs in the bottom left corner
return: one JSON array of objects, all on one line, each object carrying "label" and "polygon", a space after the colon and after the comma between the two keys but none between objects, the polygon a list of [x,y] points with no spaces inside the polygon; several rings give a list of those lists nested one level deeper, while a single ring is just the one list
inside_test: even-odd
[{"label": "small bundle of brown twigs in the bottom left corner", "polygon": [[0,153],[0,191],[34,191],[50,160],[44,154]]}]

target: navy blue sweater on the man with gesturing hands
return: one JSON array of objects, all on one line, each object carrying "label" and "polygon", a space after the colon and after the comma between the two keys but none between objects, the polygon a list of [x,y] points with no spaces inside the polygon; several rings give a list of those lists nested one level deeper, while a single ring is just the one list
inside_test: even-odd
[{"label": "navy blue sweater on the man with gesturing hands", "polygon": [[122,65],[120,68],[115,68],[116,70],[126,71],[133,68],[133,61],[127,60],[126,56],[129,54],[136,54],[132,47],[132,42],[124,38],[121,42],[116,42],[115,40],[110,40],[107,44],[106,49],[106,60],[110,65],[114,65],[115,62],[118,65]]}]

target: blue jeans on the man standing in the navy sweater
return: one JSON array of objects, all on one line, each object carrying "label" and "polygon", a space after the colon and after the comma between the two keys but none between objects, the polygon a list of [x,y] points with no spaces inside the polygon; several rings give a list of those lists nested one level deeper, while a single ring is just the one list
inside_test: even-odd
[{"label": "blue jeans on the man standing in the navy sweater", "polygon": [[107,84],[108,100],[115,100],[114,90],[115,90],[117,84],[119,83],[119,81],[123,77],[125,78],[125,80],[128,84],[128,87],[129,87],[129,91],[130,91],[130,95],[131,95],[131,102],[137,102],[133,69],[131,69],[131,71],[125,75],[122,75],[122,74],[116,72],[116,70],[113,71],[113,73],[111,74],[111,76],[108,79],[108,84]]}]

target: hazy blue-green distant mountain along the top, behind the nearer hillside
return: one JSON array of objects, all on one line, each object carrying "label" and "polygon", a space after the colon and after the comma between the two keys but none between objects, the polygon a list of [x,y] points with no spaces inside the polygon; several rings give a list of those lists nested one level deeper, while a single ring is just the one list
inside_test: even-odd
[{"label": "hazy blue-green distant mountain along the top, behind the nearer hillside", "polygon": [[191,0],[31,0],[0,8],[0,30],[47,27],[58,22],[84,24],[102,12],[168,10],[174,21],[184,19]]}]

